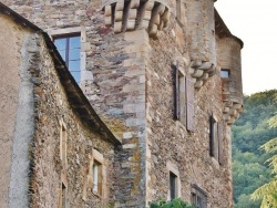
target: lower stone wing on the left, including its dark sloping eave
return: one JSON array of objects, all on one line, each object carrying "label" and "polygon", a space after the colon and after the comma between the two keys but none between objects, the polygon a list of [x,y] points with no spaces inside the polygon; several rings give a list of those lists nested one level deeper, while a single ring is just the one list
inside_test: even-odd
[{"label": "lower stone wing on the left, including its dark sloping eave", "polygon": [[[0,9],[6,46],[1,106],[7,112],[1,111],[1,123],[8,125],[1,128],[0,207],[113,205],[120,142],[95,114],[49,37],[3,4]],[[101,194],[92,184],[95,159],[101,163]]]}]

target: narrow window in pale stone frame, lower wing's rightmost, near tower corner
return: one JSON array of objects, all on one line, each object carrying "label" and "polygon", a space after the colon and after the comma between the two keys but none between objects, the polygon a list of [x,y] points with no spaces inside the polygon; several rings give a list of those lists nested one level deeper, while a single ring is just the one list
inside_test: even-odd
[{"label": "narrow window in pale stone frame, lower wing's rightmost, near tower corner", "polygon": [[93,193],[102,195],[102,164],[94,159],[92,166],[93,174]]}]

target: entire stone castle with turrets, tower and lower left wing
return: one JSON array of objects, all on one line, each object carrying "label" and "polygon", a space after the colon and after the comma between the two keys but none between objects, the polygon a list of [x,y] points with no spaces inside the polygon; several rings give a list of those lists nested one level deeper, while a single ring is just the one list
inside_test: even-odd
[{"label": "entire stone castle with turrets, tower and lower left wing", "polygon": [[0,207],[233,207],[240,50],[215,0],[3,0]]}]

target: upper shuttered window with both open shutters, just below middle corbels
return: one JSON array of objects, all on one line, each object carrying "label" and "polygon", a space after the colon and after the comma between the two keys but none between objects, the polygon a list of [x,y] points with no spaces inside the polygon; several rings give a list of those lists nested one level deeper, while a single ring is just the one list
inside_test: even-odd
[{"label": "upper shuttered window with both open shutters, just below middle corbels", "polygon": [[194,131],[194,83],[174,66],[174,118]]}]

